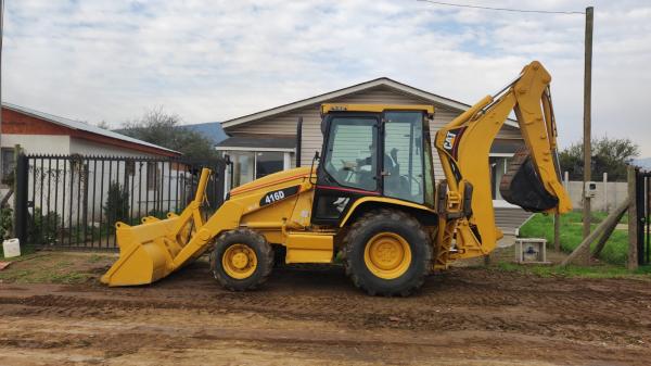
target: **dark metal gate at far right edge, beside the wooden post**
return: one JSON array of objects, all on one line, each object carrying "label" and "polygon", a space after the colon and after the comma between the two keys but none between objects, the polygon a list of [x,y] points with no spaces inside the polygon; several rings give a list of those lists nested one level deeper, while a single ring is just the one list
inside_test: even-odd
[{"label": "dark metal gate at far right edge, beside the wooden post", "polygon": [[638,171],[636,180],[638,264],[646,265],[651,263],[651,172]]}]

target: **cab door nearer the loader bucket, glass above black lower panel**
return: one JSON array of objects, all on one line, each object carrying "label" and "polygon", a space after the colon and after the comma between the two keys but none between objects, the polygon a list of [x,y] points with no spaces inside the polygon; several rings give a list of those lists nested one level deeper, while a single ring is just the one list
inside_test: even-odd
[{"label": "cab door nearer the loader bucket, glass above black lower panel", "polygon": [[337,225],[357,199],[381,194],[380,121],[378,113],[343,112],[326,116],[314,224]]}]

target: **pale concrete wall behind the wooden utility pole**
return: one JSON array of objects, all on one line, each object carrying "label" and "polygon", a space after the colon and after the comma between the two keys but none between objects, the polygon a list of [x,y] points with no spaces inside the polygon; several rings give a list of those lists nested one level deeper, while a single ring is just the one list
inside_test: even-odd
[{"label": "pale concrete wall behind the wooden utility pole", "polygon": [[[574,209],[583,209],[583,181],[565,181],[565,189],[572,199]],[[597,194],[590,200],[593,211],[612,212],[628,197],[628,184],[625,181],[597,182]]]}]

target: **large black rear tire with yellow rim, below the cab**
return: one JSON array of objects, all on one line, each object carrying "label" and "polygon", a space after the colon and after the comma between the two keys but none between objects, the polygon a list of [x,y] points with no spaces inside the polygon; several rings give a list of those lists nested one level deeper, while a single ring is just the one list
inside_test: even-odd
[{"label": "large black rear tire with yellow rim, below the cab", "polygon": [[411,215],[371,211],[344,238],[343,260],[353,283],[370,295],[407,296],[430,273],[431,239]]}]

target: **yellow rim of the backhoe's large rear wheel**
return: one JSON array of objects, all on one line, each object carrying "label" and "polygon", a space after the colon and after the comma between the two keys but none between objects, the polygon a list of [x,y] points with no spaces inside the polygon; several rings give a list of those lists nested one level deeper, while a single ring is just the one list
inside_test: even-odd
[{"label": "yellow rim of the backhoe's large rear wheel", "polygon": [[405,238],[393,232],[380,232],[367,242],[363,262],[369,270],[383,279],[395,279],[411,264],[411,249]]}]

